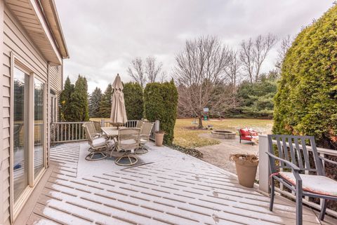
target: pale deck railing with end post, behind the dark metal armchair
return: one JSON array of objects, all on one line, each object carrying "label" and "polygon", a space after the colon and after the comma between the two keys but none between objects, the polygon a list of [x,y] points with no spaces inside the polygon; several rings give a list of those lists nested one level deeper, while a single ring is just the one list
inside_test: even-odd
[{"label": "pale deck railing with end post, behind the dark metal armchair", "polygon": [[[275,140],[273,141],[273,143],[277,143]],[[282,144],[282,143],[281,143]],[[299,145],[300,148],[302,147],[302,145]],[[293,144],[293,148],[296,149],[295,144]],[[312,151],[310,146],[307,146],[307,149],[309,151]],[[267,135],[259,135],[258,138],[258,154],[259,154],[259,190],[263,191],[265,193],[270,193],[270,186],[269,186],[269,179],[270,179],[270,168],[269,168],[269,158],[267,156],[267,154],[265,154],[265,152],[267,152],[269,150],[269,144],[268,144],[268,138]],[[336,150],[332,150],[332,149],[323,149],[323,148],[317,148],[317,152],[319,154],[319,156],[322,156],[325,158],[325,156],[337,156],[337,151]],[[325,165],[325,163],[323,164]],[[308,173],[308,171],[305,171],[306,173]],[[286,189],[284,189],[284,186],[281,184],[279,187],[275,187],[275,191],[281,193],[284,196],[287,196],[289,198],[293,198],[295,199],[296,196],[291,193],[291,191],[288,191]],[[303,203],[305,203],[306,205],[309,205],[311,207],[316,208],[317,210],[321,209],[321,205],[317,204],[315,202],[313,202],[310,198],[305,197],[303,198]],[[322,204],[322,200],[321,200],[321,204]],[[337,217],[337,212],[330,210],[330,209],[326,209],[326,213],[327,214],[331,214],[334,217]]]}]

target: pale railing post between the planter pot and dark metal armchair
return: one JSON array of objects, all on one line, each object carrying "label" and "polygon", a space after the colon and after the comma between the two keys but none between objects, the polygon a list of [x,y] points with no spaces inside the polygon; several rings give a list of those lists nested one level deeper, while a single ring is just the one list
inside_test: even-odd
[{"label": "pale railing post between the planter pot and dark metal armchair", "polygon": [[258,189],[265,193],[269,193],[269,159],[266,151],[268,151],[268,137],[267,135],[258,135]]}]

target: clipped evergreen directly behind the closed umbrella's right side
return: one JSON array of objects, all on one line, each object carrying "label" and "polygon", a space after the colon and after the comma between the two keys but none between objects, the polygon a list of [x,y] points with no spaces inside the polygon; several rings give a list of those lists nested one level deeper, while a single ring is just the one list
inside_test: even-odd
[{"label": "clipped evergreen directly behind the closed umbrella's right side", "polygon": [[144,101],[142,86],[139,83],[125,83],[123,93],[128,120],[140,120],[143,118]]}]

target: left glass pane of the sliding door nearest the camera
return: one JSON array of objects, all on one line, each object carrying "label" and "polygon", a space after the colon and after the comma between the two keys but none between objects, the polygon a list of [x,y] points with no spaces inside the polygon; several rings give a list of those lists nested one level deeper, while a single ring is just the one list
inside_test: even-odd
[{"label": "left glass pane of the sliding door nearest the camera", "polygon": [[29,76],[14,68],[13,182],[14,200],[28,185],[27,106]]}]

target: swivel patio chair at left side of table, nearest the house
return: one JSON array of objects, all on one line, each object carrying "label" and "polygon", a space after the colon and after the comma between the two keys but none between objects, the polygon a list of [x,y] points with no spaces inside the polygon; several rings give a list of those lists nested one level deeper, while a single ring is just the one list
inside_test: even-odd
[{"label": "swivel patio chair at left side of table, nearest the house", "polygon": [[[84,123],[83,128],[86,132],[86,138],[88,139],[88,144],[90,144],[90,153],[86,156],[86,160],[88,161],[98,161],[100,159],[106,158],[107,154],[105,154],[103,151],[104,149],[107,149],[107,139],[105,137],[98,137],[95,136],[94,133],[91,133],[91,126],[92,123]],[[100,156],[96,158],[95,156]]]}]

